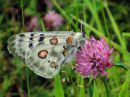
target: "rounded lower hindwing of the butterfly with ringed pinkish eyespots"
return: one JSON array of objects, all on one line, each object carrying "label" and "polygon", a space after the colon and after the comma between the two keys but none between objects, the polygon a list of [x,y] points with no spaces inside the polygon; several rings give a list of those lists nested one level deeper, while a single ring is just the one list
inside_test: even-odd
[{"label": "rounded lower hindwing of the butterfly with ringed pinkish eyespots", "polygon": [[[52,78],[59,71],[61,63],[64,60],[64,56],[62,55],[63,49],[61,49],[62,46],[63,45],[59,45],[59,47],[39,45],[31,49],[25,54],[27,66],[42,77]],[[56,48],[61,49],[61,51],[55,51],[54,49]],[[38,53],[43,50],[47,52],[45,58],[39,57],[38,55]]]}]

